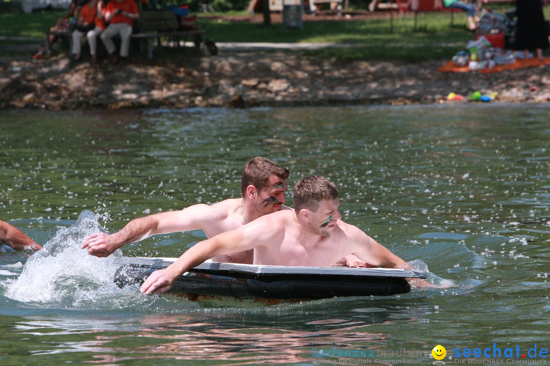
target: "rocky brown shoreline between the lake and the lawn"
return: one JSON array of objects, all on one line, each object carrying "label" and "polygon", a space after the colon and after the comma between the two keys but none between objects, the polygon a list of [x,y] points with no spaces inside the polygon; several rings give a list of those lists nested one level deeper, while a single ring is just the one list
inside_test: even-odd
[{"label": "rocky brown shoreline between the lake and the lawn", "polygon": [[438,72],[443,63],[318,60],[289,52],[222,52],[99,68],[87,61],[72,65],[62,55],[0,58],[0,108],[429,104],[450,92],[467,97],[474,91],[497,92],[492,103],[549,101],[550,65],[480,74]]}]

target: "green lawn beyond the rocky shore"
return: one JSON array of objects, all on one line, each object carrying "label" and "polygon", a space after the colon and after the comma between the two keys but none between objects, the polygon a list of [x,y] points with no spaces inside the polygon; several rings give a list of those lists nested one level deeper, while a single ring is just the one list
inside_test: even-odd
[{"label": "green lawn beyond the rocky shore", "polygon": [[[498,12],[513,5],[494,7]],[[32,14],[0,14],[0,35],[43,38],[45,31],[65,12],[37,12]],[[242,12],[224,13],[243,15]],[[550,7],[545,14],[550,17]],[[230,22],[199,14],[199,24],[215,42],[290,42],[354,44],[351,48],[331,48],[303,52],[320,58],[342,60],[400,60],[418,62],[449,59],[472,39],[466,30],[466,16],[455,13],[453,24],[448,13],[420,13],[418,29],[414,32],[412,14],[394,13],[393,32],[390,32],[389,14],[384,19],[335,20],[304,22],[304,30],[287,29],[282,24],[266,27],[263,24]]]}]

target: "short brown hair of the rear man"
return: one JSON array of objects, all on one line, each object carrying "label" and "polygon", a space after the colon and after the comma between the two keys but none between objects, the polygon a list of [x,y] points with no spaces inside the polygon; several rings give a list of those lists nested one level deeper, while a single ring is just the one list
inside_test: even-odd
[{"label": "short brown hair of the rear man", "polygon": [[254,185],[258,192],[267,188],[267,181],[273,175],[287,180],[290,171],[265,157],[257,156],[250,159],[244,166],[241,176],[241,194],[245,196],[246,187],[249,185]]}]

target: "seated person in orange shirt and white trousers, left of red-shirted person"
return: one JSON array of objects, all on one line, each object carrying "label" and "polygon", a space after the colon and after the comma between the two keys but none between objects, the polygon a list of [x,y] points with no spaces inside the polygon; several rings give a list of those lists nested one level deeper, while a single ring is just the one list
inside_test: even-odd
[{"label": "seated person in orange shirt and white trousers, left of red-shirted person", "polygon": [[81,40],[84,35],[90,45],[90,54],[92,64],[97,65],[97,36],[105,30],[105,20],[103,19],[103,1],[90,0],[80,10],[80,15],[76,21],[76,29],[73,32],[73,55],[74,61],[80,61]]}]

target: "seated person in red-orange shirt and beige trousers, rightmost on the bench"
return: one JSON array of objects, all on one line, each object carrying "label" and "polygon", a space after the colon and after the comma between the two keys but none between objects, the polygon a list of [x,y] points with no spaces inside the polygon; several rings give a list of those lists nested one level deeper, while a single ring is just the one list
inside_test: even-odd
[{"label": "seated person in red-orange shirt and beige trousers, rightmost on the bench", "polygon": [[105,21],[109,26],[101,33],[101,41],[111,55],[114,64],[119,62],[112,38],[120,36],[120,60],[125,63],[130,52],[130,36],[134,20],[139,19],[138,5],[134,0],[111,0],[105,9]]}]

